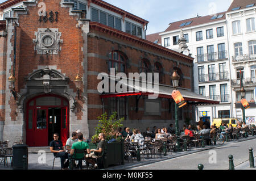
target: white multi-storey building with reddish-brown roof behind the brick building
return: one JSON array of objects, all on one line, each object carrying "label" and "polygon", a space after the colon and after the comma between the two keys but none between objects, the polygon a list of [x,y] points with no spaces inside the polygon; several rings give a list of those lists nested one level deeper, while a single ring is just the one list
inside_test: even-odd
[{"label": "white multi-storey building with reddish-brown roof behind the brick building", "polygon": [[[225,14],[199,16],[175,22],[173,25],[174,28],[171,27],[171,23],[165,32],[160,33],[162,45],[180,51],[176,40],[179,39],[182,28],[184,37],[187,39],[189,53],[195,58],[192,78],[194,91],[220,102],[220,104],[197,106],[196,121],[232,117],[230,58]],[[171,30],[168,31],[168,29]]]}]

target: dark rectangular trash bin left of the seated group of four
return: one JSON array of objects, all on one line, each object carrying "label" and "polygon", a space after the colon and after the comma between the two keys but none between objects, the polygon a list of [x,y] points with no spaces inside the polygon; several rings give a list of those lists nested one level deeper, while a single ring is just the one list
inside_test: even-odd
[{"label": "dark rectangular trash bin left of the seated group of four", "polygon": [[[26,156],[26,160],[23,159]],[[13,170],[23,170],[28,167],[27,145],[13,145]]]}]

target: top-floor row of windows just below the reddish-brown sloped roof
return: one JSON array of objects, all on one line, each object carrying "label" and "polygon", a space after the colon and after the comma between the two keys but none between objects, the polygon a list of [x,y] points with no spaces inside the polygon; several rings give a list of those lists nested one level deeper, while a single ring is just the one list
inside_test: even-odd
[{"label": "top-floor row of windows just below the reddish-brown sloped roof", "polygon": [[[217,37],[224,36],[224,27],[218,27],[217,28]],[[188,43],[188,33],[184,34],[184,38],[186,39],[186,42]],[[206,38],[207,39],[213,39],[213,29],[209,29],[206,31]],[[173,36],[172,37],[172,44],[177,45],[179,40],[179,36]],[[196,32],[196,41],[203,40],[203,31],[197,31]],[[170,37],[164,38],[164,47],[170,46]]]}]

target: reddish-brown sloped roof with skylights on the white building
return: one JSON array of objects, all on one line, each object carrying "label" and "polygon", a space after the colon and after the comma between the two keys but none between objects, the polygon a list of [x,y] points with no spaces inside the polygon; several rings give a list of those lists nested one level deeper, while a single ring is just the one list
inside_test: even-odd
[{"label": "reddish-brown sloped roof with skylights on the white building", "polygon": [[[173,23],[170,23],[170,26],[164,32],[173,31],[173,30],[177,30],[177,29],[180,29],[180,28],[192,27],[192,26],[196,26],[196,25],[204,24],[204,23],[216,22],[218,20],[223,20],[223,19],[226,19],[225,13],[226,13],[226,11],[225,12],[218,12],[216,14],[216,15],[222,15],[223,14],[222,18],[211,19],[213,17],[213,15],[207,15],[207,16],[198,16],[198,17],[195,17],[195,18],[180,20],[178,22],[173,22]],[[189,24],[187,26],[180,26],[181,24],[188,23],[188,22],[191,22],[191,24]]]}]

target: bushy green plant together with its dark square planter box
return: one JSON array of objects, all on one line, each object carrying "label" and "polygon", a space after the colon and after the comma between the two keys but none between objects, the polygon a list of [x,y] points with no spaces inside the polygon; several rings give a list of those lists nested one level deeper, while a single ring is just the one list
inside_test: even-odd
[{"label": "bushy green plant together with its dark square planter box", "polygon": [[106,154],[104,158],[104,167],[115,164],[125,164],[124,162],[124,152],[123,152],[123,140],[122,138],[115,139],[115,131],[119,127],[122,127],[122,121],[124,118],[117,119],[117,112],[114,112],[108,117],[105,112],[101,116],[97,117],[98,126],[95,128],[95,134],[92,137],[92,143],[89,144],[90,148],[96,148],[96,143],[98,142],[98,134],[105,134]]}]

